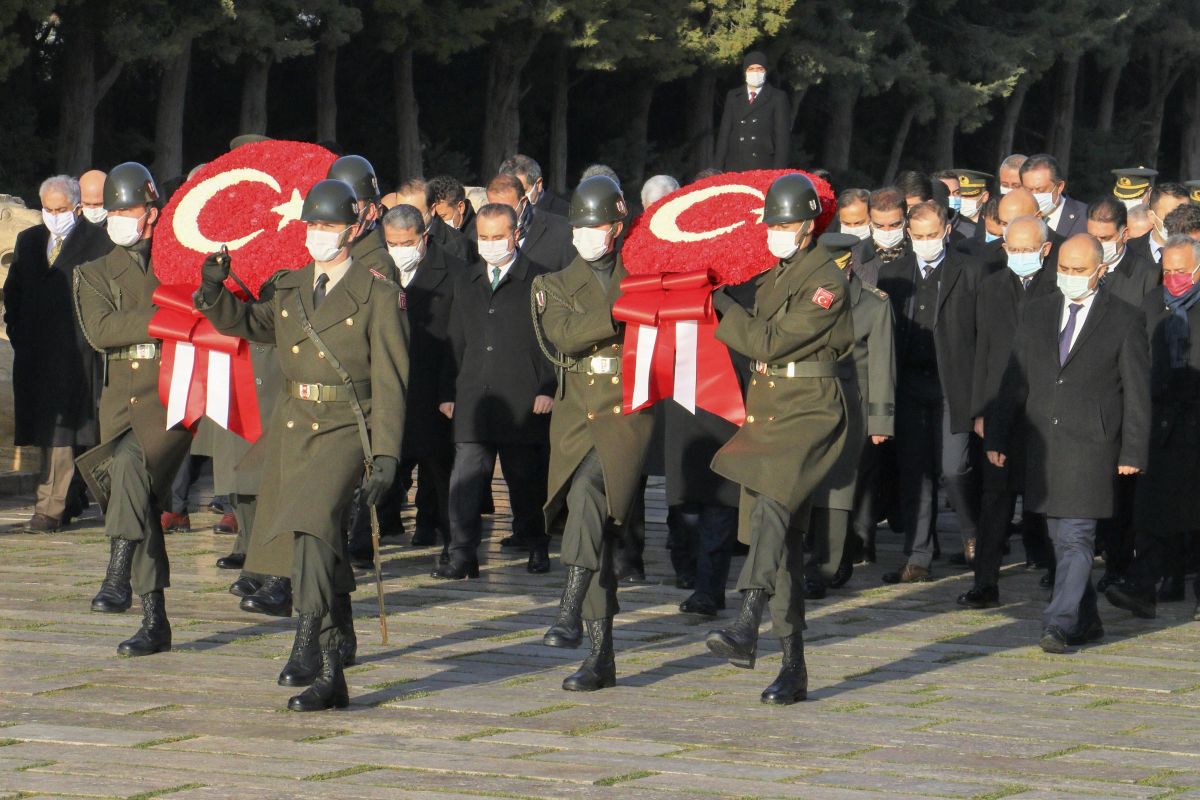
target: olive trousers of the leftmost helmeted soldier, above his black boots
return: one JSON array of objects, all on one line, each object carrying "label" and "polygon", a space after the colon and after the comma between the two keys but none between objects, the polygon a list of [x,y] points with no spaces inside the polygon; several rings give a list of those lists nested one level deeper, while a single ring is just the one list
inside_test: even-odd
[{"label": "olive trousers of the leftmost helmeted soldier, above his black boots", "polygon": [[170,585],[167,546],[150,491],[145,452],[133,431],[126,431],[116,443],[108,477],[112,486],[104,513],[104,534],[137,542],[130,569],[133,594],[145,595],[166,589]]}]

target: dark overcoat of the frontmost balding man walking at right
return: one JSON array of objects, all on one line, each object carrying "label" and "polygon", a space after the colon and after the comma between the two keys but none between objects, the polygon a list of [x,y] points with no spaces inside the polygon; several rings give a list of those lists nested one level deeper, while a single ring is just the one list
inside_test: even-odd
[{"label": "dark overcoat of the frontmost balding man walking at right", "polygon": [[1146,469],[1150,344],[1146,315],[1096,294],[1066,363],[1058,365],[1061,293],[1031,300],[985,420],[988,450],[1007,452],[1025,411],[1027,507],[1051,517],[1104,519],[1116,507],[1117,467]]}]

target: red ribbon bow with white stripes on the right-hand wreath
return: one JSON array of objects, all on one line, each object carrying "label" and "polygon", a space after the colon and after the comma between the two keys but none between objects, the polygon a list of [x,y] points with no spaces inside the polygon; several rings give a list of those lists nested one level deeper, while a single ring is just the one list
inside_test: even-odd
[{"label": "red ribbon bow with white stripes on the right-hand wreath", "polygon": [[613,319],[624,321],[622,404],[631,414],[673,397],[695,413],[745,420],[742,387],[730,351],[716,341],[716,314],[707,270],[632,276],[620,282]]}]

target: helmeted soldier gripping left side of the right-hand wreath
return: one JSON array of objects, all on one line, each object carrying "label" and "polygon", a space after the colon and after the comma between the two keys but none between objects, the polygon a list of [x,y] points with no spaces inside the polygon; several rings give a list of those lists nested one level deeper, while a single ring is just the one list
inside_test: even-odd
[{"label": "helmeted soldier gripping left side of the right-hand wreath", "polygon": [[[612,618],[618,610],[611,525],[626,518],[642,486],[642,464],[654,417],[622,414],[620,343],[624,325],[612,305],[626,277],[613,242],[625,218],[617,184],[601,175],[582,181],[571,198],[570,223],[580,257],[560,272],[533,282],[535,330],[559,356],[559,392],[550,420],[546,527],[566,505],[563,564],[566,587],[558,618],[542,642],[576,648],[586,625],[592,651],[563,681],[568,691],[595,691],[617,682]],[[548,348],[546,348],[548,350]]]}]

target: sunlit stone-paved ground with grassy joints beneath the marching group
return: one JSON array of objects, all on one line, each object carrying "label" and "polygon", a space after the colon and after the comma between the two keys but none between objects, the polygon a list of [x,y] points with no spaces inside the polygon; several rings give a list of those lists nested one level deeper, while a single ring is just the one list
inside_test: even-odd
[{"label": "sunlit stone-paved ground with grassy joints beneath the marching group", "polygon": [[[529,576],[500,553],[497,483],[482,578],[433,581],[434,551],[386,547],[390,643],[360,576],[352,706],[306,715],[275,685],[290,621],[241,613],[212,566],[230,537],[168,537],[175,648],[122,660],[137,606],[88,608],[97,521],[2,533],[0,798],[1200,798],[1190,600],[1152,621],[1102,601],[1108,638],[1051,656],[1018,554],[1007,604],[962,610],[967,578],[944,564],[935,583],[880,584],[900,561],[883,530],[881,564],[810,604],[810,702],[768,708],[778,648],[768,633],[754,672],[707,654],[710,622],[676,608],[661,483],[648,494],[649,583],[620,591],[616,688],[560,690],[583,656],[540,643],[563,570]],[[10,503],[0,523],[29,512]]]}]

